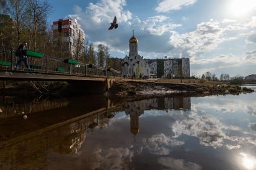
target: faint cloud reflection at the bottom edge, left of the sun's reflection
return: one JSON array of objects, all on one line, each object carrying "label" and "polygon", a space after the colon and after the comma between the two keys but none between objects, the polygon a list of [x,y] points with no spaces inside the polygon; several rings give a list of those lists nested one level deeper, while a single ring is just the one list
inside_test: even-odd
[{"label": "faint cloud reflection at the bottom edge, left of the sun's reflection", "polygon": [[172,159],[171,157],[160,157],[158,163],[165,169],[183,169],[183,170],[199,170],[202,169],[197,163],[186,162],[183,159]]}]

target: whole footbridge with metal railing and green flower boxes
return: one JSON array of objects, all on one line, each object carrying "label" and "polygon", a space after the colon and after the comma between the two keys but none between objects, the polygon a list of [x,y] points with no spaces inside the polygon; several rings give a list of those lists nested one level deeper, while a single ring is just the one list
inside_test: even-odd
[{"label": "whole footbridge with metal railing and green flower boxes", "polygon": [[29,57],[31,69],[22,63],[16,68],[18,57],[15,50],[0,47],[0,80],[67,81],[92,87],[106,86],[108,90],[115,79],[121,78],[121,71],[82,62],[64,62],[61,58],[43,55]]}]

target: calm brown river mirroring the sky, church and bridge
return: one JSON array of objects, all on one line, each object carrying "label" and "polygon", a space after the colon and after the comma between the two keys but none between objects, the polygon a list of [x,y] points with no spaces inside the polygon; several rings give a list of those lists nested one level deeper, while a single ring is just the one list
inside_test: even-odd
[{"label": "calm brown river mirroring the sky, church and bridge", "polygon": [[256,93],[0,97],[0,169],[256,169]]}]

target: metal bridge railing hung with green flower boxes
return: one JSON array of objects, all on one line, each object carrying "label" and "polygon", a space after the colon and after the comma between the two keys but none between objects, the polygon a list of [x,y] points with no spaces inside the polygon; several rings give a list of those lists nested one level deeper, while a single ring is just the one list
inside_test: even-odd
[{"label": "metal bridge railing hung with green flower boxes", "polygon": [[26,71],[52,74],[70,74],[75,76],[91,77],[121,77],[121,71],[106,69],[103,67],[90,67],[90,65],[78,62],[78,64],[65,63],[63,59],[44,55],[43,58],[28,57],[31,69],[26,68],[25,63],[20,62],[17,68],[19,56],[16,50],[0,46],[0,70]]}]

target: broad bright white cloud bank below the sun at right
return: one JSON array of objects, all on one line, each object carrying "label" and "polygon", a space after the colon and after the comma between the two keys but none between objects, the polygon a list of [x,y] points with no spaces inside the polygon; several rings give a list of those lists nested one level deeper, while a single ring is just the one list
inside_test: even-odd
[{"label": "broad bright white cloud bank below the sun at right", "polygon": [[[169,43],[175,47],[174,50],[178,52],[187,51],[190,56],[197,57],[203,53],[218,49],[221,43],[243,38],[246,34],[241,34],[241,32],[246,31],[248,33],[254,26],[254,22],[256,23],[254,17],[240,22],[230,19],[224,19],[219,22],[218,20],[210,19],[207,22],[199,23],[195,31],[184,34],[172,31]],[[256,34],[248,37],[247,41],[249,43],[256,43],[254,35]]]}]

